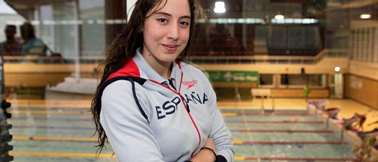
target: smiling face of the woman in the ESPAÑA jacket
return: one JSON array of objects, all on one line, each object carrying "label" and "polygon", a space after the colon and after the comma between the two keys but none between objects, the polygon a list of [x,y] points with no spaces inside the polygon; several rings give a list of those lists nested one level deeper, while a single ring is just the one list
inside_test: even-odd
[{"label": "smiling face of the woman in the ESPA\u00d1A jacket", "polygon": [[[165,0],[147,13],[161,8]],[[167,0],[143,26],[142,55],[156,62],[172,62],[184,50],[189,39],[191,13],[187,0]]]}]

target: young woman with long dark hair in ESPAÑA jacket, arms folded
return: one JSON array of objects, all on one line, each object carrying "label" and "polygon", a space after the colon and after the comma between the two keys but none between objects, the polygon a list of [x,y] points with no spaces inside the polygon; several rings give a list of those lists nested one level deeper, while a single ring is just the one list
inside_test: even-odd
[{"label": "young woman with long dark hair in ESPA\u00d1A jacket, arms folded", "polygon": [[234,160],[211,84],[181,62],[199,11],[195,0],[136,2],[92,101],[100,152],[108,139],[121,162]]}]

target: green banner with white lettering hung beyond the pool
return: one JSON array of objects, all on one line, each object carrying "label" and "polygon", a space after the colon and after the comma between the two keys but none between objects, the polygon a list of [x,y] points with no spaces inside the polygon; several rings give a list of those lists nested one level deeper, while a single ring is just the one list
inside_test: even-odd
[{"label": "green banner with white lettering hung beyond the pool", "polygon": [[256,71],[207,71],[213,82],[259,82],[259,72]]}]

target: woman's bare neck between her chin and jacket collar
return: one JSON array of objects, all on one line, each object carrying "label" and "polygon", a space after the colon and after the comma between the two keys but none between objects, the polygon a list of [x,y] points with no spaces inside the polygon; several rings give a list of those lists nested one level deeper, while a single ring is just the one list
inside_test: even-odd
[{"label": "woman's bare neck between her chin and jacket collar", "polygon": [[170,78],[170,74],[172,72],[170,66],[172,65],[172,62],[164,62],[158,60],[153,55],[151,55],[150,51],[147,51],[147,49],[143,49],[140,52],[143,58],[146,59],[148,64],[150,64],[152,69],[155,70],[161,77],[163,77],[164,79]]}]

